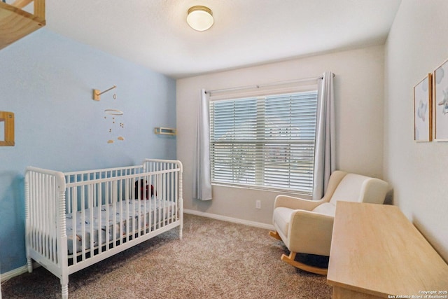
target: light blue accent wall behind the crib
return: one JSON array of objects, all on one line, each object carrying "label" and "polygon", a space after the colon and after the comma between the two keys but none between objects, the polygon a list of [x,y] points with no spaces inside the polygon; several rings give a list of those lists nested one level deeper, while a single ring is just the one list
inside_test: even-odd
[{"label": "light blue accent wall behind the crib", "polygon": [[[93,89],[113,85],[92,99]],[[0,50],[0,111],[15,113],[15,146],[0,146],[1,273],[26,264],[27,166],[73,171],[176,159],[176,139],[153,133],[176,127],[176,81],[45,28]]]}]

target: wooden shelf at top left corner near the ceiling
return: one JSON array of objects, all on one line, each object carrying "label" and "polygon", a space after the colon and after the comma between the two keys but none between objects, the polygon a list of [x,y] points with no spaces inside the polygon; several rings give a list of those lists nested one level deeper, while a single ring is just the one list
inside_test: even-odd
[{"label": "wooden shelf at top left corner near the ceiling", "polygon": [[[34,2],[34,14],[23,11]],[[45,0],[0,2],[0,49],[45,26]]]}]

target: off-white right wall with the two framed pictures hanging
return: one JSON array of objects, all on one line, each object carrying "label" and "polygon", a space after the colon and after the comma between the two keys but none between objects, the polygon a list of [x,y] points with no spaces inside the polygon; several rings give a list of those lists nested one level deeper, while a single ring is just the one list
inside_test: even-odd
[{"label": "off-white right wall with the two framed pictures hanging", "polygon": [[447,12],[445,0],[402,0],[386,43],[384,102],[384,174],[393,185],[395,204],[444,260],[448,143],[414,141],[413,88],[448,59]]}]

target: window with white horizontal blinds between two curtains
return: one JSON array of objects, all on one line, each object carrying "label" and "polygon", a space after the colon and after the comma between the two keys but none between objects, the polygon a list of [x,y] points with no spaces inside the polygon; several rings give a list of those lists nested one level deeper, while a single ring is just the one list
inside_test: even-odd
[{"label": "window with white horizontal blinds between two curtains", "polygon": [[[262,113],[266,113],[266,111],[262,111],[263,109],[266,109],[266,104],[262,104],[263,101],[272,101],[275,97],[283,98],[287,95],[290,97],[293,95],[293,97],[297,97],[297,94],[302,97],[302,95],[312,95],[313,99],[308,100],[309,103],[313,103],[314,105],[314,120],[311,120],[310,123],[307,123],[306,129],[307,132],[309,132],[310,124],[314,124],[314,132],[309,132],[306,138],[304,138],[304,134],[302,136],[299,136],[300,134],[291,134],[294,130],[294,125],[290,125],[289,127],[281,127],[285,126],[285,123],[282,123],[282,121],[279,121],[279,127],[272,127],[271,132],[276,132],[272,134],[267,134],[267,130],[264,127],[264,121],[263,116],[258,116],[258,122],[255,125],[256,133],[255,136],[253,135],[254,125],[246,125],[248,127],[248,131],[245,131],[244,129],[241,129],[241,125],[236,125],[235,123],[230,125],[232,129],[230,131],[233,131],[231,133],[225,132],[226,128],[225,126],[221,125],[221,127],[218,130],[217,129],[217,123],[214,123],[214,113],[216,111],[216,105],[225,106],[225,103],[230,103],[229,106],[232,106],[232,103],[235,104],[236,102],[239,102],[239,104],[243,103],[244,101],[253,102],[255,101],[256,104],[256,110],[257,113],[261,115]],[[258,188],[262,190],[276,190],[276,191],[286,191],[288,193],[297,193],[301,195],[312,195],[313,192],[313,179],[314,179],[314,143],[315,143],[315,134],[316,134],[316,109],[317,109],[317,86],[312,85],[307,86],[307,88],[301,88],[300,90],[290,90],[288,92],[281,92],[279,94],[276,94],[275,92],[271,93],[265,93],[265,95],[256,95],[255,93],[251,93],[250,95],[241,94],[241,97],[238,97],[238,95],[232,95],[229,99],[225,97],[225,95],[221,95],[220,97],[217,97],[216,99],[211,98],[210,101],[210,158],[211,158],[211,182],[213,184],[219,184],[219,185],[227,185],[227,186],[242,186],[246,188]],[[291,99],[291,101],[300,102],[300,99]],[[280,101],[281,102],[281,101]],[[288,101],[286,101],[288,102]],[[302,99],[302,102],[307,102],[307,99]],[[244,104],[244,103],[243,103]],[[265,106],[264,108],[262,106]],[[244,106],[244,105],[243,105]],[[250,106],[250,104],[249,104]],[[269,106],[269,105],[268,105]],[[234,107],[235,108],[235,107]],[[297,112],[297,107],[291,108],[294,113]],[[242,109],[241,107],[239,109]],[[272,109],[272,107],[268,108]],[[294,110],[295,109],[295,110]],[[238,110],[238,108],[236,109]],[[235,112],[237,112],[235,109],[233,112],[234,116],[230,116],[230,120],[232,121],[239,121],[235,120],[235,118],[238,118],[238,116],[235,116]],[[279,113],[283,113],[284,116],[284,110],[279,109]],[[313,123],[314,122],[314,123]],[[219,125],[219,123],[218,123]],[[305,125],[304,125],[305,126]],[[229,128],[230,128],[229,127]],[[286,132],[283,134],[283,132]],[[290,132],[288,132],[290,130]],[[239,131],[239,132],[237,132]],[[218,133],[217,133],[218,132]],[[224,133],[225,132],[225,133]],[[238,134],[248,134],[246,137],[238,137]],[[304,130],[303,130],[304,132]],[[234,134],[235,133],[235,134]],[[296,132],[297,133],[297,132]],[[223,137],[223,134],[230,134],[232,137]],[[278,139],[269,138],[272,136],[279,137]],[[228,142],[228,139],[232,139],[230,142]],[[237,152],[230,152],[227,149],[221,150],[221,158],[218,154],[220,152],[221,147],[225,147],[225,145],[239,147],[241,150],[241,153]],[[243,148],[241,148],[241,145],[244,145]],[[272,158],[271,155],[270,158],[266,158],[265,155],[262,155],[260,153],[263,153],[263,148],[269,148],[271,146],[271,150],[267,151],[268,153],[274,153],[276,148],[278,155],[278,159]],[[279,150],[281,149],[281,150]],[[301,156],[300,159],[291,160],[291,153],[297,155],[299,151],[303,151],[304,155]],[[235,163],[239,158],[243,159],[244,153],[254,153],[252,156],[246,155],[246,164],[244,162]],[[305,157],[306,153],[306,157]],[[228,154],[227,157],[223,158],[222,155]],[[248,158],[251,156],[251,158]],[[220,160],[221,159],[221,160]],[[225,161],[227,159],[227,162]],[[249,161],[250,160],[250,161]],[[256,161],[256,162],[255,162]],[[270,163],[269,163],[270,162]],[[224,163],[224,164],[223,164]],[[225,163],[228,163],[228,165],[233,165],[233,167],[230,167],[232,171],[230,170],[223,170],[225,167]],[[254,166],[255,163],[255,166]],[[300,169],[300,164],[303,164],[304,167]],[[218,167],[221,166],[221,170],[218,170]],[[275,167],[279,167],[279,169],[274,169]],[[239,168],[238,168],[239,167]],[[269,168],[270,167],[270,168]],[[276,178],[277,174],[282,172],[281,167],[285,167],[283,169],[283,174],[280,175],[278,178]],[[269,169],[268,169],[269,168]],[[301,172],[307,172],[306,175],[299,175],[297,174],[299,171]],[[246,172],[246,174],[244,174]],[[248,172],[251,172],[251,175],[248,175]],[[288,174],[286,174],[288,172]],[[241,179],[241,176],[246,175],[246,181]],[[266,177],[268,176],[268,177]],[[303,176],[303,177],[301,177]],[[288,178],[290,181],[285,182],[285,178]],[[279,180],[279,181],[276,181]]]}]

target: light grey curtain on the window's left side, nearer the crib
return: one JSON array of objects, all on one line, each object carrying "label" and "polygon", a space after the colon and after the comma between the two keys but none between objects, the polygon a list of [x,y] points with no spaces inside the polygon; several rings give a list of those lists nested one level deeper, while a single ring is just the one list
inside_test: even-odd
[{"label": "light grey curtain on the window's left side, nearer the crib", "polygon": [[209,97],[201,90],[197,113],[193,198],[211,200]]}]

